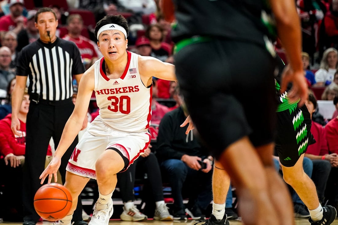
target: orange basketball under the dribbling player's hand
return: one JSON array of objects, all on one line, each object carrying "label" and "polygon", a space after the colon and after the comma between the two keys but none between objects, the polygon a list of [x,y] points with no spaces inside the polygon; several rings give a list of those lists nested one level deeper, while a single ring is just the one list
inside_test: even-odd
[{"label": "orange basketball under the dribbling player's hand", "polygon": [[45,184],[35,193],[34,208],[44,220],[60,220],[67,216],[71,207],[72,196],[61,184]]}]

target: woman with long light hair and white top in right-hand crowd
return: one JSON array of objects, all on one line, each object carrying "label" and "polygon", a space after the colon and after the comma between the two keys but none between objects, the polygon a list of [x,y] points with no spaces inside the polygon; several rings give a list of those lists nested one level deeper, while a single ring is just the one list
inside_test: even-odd
[{"label": "woman with long light hair and white top in right-hand crowd", "polygon": [[337,68],[338,51],[335,48],[328,48],[323,53],[320,69],[315,73],[316,86],[328,86],[333,81]]}]

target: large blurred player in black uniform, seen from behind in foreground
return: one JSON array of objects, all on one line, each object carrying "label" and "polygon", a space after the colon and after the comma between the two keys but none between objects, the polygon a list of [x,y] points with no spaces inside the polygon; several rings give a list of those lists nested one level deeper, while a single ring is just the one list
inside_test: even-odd
[{"label": "large blurred player in black uniform, seen from behind in foreground", "polygon": [[291,198],[271,158],[276,102],[270,41],[277,30],[290,61],[282,90],[292,82],[290,101],[300,98],[303,105],[307,87],[294,1],[174,3],[181,91],[201,138],[237,188],[243,222],[294,224]]}]

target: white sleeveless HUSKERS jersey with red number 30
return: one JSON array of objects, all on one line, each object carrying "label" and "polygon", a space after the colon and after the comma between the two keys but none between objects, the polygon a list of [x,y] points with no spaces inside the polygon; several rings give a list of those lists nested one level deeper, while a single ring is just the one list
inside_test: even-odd
[{"label": "white sleeveless HUSKERS jersey with red number 30", "polygon": [[152,87],[142,83],[138,54],[127,51],[128,62],[122,76],[109,79],[104,58],[95,62],[95,96],[101,120],[116,130],[146,132],[151,119]]}]

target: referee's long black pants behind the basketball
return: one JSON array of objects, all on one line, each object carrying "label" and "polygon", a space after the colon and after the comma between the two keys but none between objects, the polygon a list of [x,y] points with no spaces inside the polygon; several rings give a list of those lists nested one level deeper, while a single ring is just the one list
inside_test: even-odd
[{"label": "referee's long black pants behind the basketball", "polygon": [[[71,99],[53,102],[30,101],[26,121],[26,153],[23,171],[24,221],[38,222],[40,216],[34,209],[34,195],[41,187],[40,175],[44,171],[47,148],[53,137],[55,149],[60,142],[65,124],[72,114],[74,104]],[[62,182],[66,181],[66,166],[78,142],[77,137],[61,159],[59,172]],[[53,178],[54,179],[54,178]],[[52,179],[52,182],[54,181]],[[82,204],[79,196],[72,221],[82,220]]]}]

